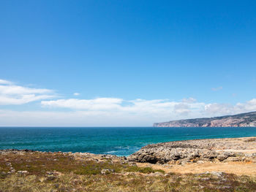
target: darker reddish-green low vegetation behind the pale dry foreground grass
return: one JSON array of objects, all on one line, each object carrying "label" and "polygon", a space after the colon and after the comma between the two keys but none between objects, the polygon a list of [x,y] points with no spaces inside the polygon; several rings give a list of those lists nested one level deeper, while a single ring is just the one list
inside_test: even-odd
[{"label": "darker reddish-green low vegetation behind the pale dry foreground grass", "polygon": [[129,166],[129,164],[121,164],[113,162],[110,159],[104,161],[78,161],[67,154],[54,153],[31,153],[26,155],[10,154],[8,158],[0,157],[0,170],[9,172],[11,163],[12,168],[16,171],[26,170],[29,174],[43,176],[47,172],[61,172],[75,174],[101,174],[102,169],[111,169],[113,172],[164,172],[162,170],[151,169],[150,167],[140,168],[138,166]]}]

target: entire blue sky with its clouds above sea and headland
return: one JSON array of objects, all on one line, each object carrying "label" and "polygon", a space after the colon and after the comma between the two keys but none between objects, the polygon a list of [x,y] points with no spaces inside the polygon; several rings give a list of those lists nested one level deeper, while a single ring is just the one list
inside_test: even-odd
[{"label": "entire blue sky with its clouds above sea and headland", "polygon": [[0,126],[256,111],[256,1],[0,1]]}]

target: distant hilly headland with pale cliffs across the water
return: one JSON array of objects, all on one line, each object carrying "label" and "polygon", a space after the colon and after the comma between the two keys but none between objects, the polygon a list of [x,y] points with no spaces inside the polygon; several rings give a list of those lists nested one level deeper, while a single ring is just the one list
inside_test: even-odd
[{"label": "distant hilly headland with pale cliffs across the water", "polygon": [[170,120],[154,123],[154,127],[256,127],[256,112],[225,115],[215,118]]}]

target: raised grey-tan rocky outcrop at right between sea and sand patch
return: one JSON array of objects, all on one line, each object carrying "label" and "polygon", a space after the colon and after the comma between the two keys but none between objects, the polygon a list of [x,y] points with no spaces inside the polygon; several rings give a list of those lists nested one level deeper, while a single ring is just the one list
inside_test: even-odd
[{"label": "raised grey-tan rocky outcrop at right between sea and sand patch", "polygon": [[200,139],[146,145],[129,155],[129,161],[151,164],[185,164],[202,161],[255,161],[256,137]]}]

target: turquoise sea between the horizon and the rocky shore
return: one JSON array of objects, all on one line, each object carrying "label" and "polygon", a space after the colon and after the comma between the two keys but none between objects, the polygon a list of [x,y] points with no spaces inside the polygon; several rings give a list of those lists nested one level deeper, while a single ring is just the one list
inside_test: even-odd
[{"label": "turquoise sea between the horizon and the rocky shore", "polygon": [[144,145],[186,139],[256,136],[256,128],[0,128],[0,149],[130,155]]}]

